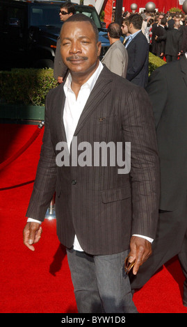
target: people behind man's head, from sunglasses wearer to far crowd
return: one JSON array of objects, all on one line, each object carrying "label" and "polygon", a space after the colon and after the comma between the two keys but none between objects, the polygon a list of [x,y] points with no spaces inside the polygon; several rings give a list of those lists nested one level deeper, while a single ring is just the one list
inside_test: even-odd
[{"label": "people behind man's head, from sunglasses wearer to far crowd", "polygon": [[[62,22],[65,22],[75,13],[72,3],[63,4],[62,10],[63,13],[67,13],[66,15],[59,14]],[[125,12],[122,14],[122,24],[114,23],[111,22],[108,26],[108,39],[112,49],[109,48],[102,62],[115,74],[120,74],[120,76],[126,77],[139,86],[145,87],[147,85],[149,51],[161,59],[164,58],[167,62],[177,60],[181,54],[186,52],[187,15],[181,13],[145,12],[134,14]],[[112,40],[110,33],[116,34]],[[130,45],[132,38],[134,40]],[[120,40],[127,49],[127,53],[121,47]],[[118,41],[118,46],[116,41]],[[115,48],[118,48],[115,51],[113,49],[114,43]],[[62,83],[66,76],[67,67],[65,67],[60,55],[59,37],[54,61],[54,78],[57,79],[58,83]]]}]

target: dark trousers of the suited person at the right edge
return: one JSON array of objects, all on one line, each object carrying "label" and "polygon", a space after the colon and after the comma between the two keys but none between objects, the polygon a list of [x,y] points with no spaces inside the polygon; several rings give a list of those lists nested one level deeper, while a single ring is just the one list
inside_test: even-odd
[{"label": "dark trousers of the suited person at the right edge", "polygon": [[178,255],[184,282],[184,301],[187,303],[187,201],[181,199],[179,207],[166,212],[160,210],[152,256],[140,267],[137,276],[131,276],[132,289],[139,289],[175,255]]}]

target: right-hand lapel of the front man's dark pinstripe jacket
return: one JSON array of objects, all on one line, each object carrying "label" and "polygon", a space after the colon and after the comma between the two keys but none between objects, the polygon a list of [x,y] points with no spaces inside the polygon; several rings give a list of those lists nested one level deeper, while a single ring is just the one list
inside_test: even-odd
[{"label": "right-hand lapel of the front man's dark pinstripe jacket", "polygon": [[[108,73],[109,72],[109,73]],[[76,130],[74,132],[74,136],[79,133],[80,129],[85,124],[88,117],[91,113],[97,109],[98,104],[106,97],[106,95],[111,91],[110,84],[111,84],[112,76],[111,72],[104,66],[101,74],[99,75],[97,82],[95,83],[92,92],[90,93],[90,97],[88,97],[88,101],[81,113],[81,117],[79,122],[76,126]]]}]

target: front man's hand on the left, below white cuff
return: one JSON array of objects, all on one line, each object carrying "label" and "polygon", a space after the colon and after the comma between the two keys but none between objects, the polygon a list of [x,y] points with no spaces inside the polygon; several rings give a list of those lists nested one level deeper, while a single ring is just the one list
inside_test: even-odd
[{"label": "front man's hand on the left, below white cuff", "polygon": [[35,248],[32,244],[37,243],[40,240],[42,234],[42,228],[40,223],[26,223],[24,231],[24,245],[27,246],[31,251],[34,251]]}]

